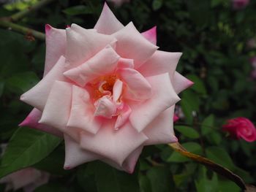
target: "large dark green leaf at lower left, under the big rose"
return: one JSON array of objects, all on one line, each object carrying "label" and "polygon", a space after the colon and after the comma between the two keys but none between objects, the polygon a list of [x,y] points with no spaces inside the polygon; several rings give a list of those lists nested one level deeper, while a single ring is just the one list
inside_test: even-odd
[{"label": "large dark green leaf at lower left, under the big rose", "polygon": [[61,142],[61,138],[32,128],[18,128],[1,158],[0,177],[41,161]]}]

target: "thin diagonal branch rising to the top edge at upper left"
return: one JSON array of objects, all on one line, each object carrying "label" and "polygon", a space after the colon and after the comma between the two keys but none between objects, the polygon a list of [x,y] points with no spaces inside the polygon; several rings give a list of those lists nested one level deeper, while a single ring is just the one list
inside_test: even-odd
[{"label": "thin diagonal branch rising to the top edge at upper left", "polygon": [[18,21],[18,20],[24,18],[30,12],[34,12],[35,10],[45,6],[45,4],[48,4],[51,1],[54,1],[54,0],[41,0],[37,4],[34,4],[33,6],[29,7],[28,9],[24,9],[20,12],[15,13],[14,15],[12,15],[10,17],[10,20],[12,20],[13,22]]}]

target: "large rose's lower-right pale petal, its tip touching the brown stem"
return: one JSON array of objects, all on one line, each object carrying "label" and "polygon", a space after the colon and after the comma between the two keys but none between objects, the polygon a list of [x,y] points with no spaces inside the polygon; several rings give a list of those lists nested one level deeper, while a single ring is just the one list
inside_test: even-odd
[{"label": "large rose's lower-right pale petal, its tip touching the brown stem", "polygon": [[173,131],[174,105],[157,116],[144,130],[148,140],[144,145],[158,145],[177,142]]}]

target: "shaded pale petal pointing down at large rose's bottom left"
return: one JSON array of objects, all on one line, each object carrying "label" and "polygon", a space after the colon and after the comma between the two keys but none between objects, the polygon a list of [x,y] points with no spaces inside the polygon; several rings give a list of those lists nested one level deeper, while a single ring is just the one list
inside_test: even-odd
[{"label": "shaded pale petal pointing down at large rose's bottom left", "polygon": [[99,159],[99,156],[89,151],[83,150],[79,143],[64,134],[65,139],[65,163],[64,169],[72,169],[75,166],[84,164],[89,161]]}]

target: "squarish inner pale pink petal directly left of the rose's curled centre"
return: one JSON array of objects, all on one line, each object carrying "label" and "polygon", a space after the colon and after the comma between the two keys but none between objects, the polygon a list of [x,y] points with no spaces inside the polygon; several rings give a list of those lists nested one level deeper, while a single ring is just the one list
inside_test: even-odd
[{"label": "squarish inner pale pink petal directly left of the rose's curled centre", "polygon": [[96,134],[101,125],[101,120],[94,117],[94,106],[91,104],[89,93],[73,85],[72,107],[67,126]]}]

